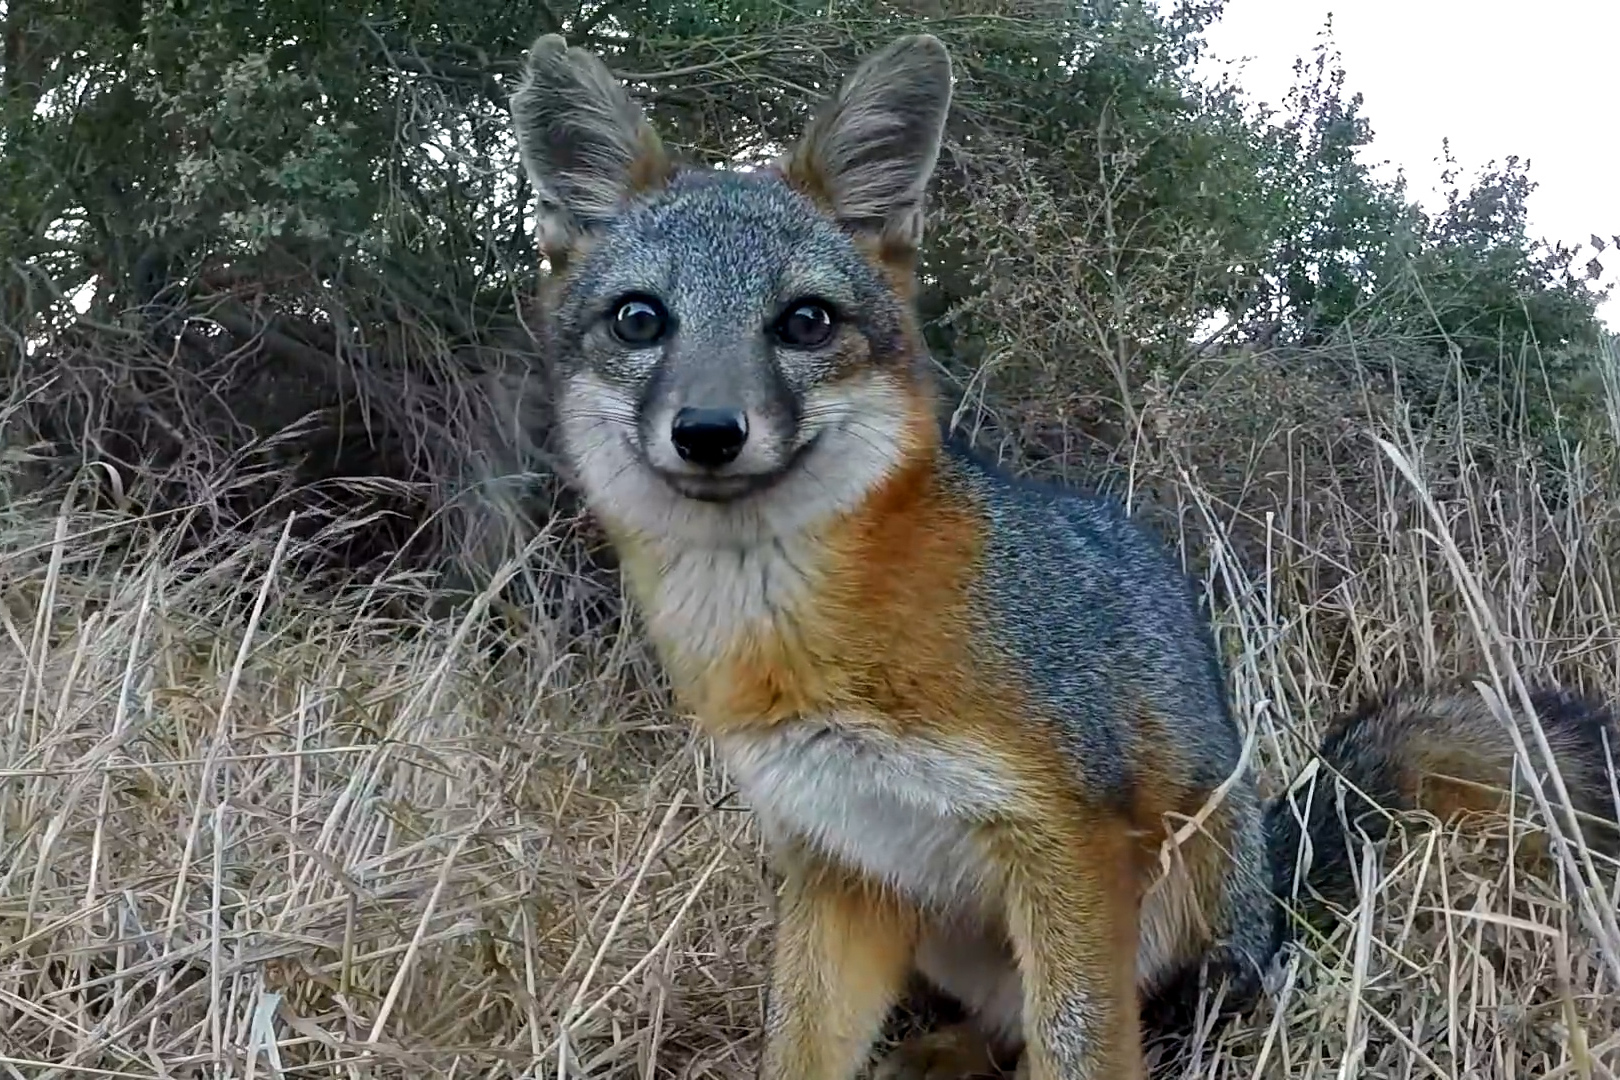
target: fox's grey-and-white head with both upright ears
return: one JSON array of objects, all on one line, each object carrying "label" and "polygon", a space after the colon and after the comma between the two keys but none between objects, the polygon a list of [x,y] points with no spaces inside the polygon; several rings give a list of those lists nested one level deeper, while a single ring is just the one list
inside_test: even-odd
[{"label": "fox's grey-and-white head with both upright ears", "polygon": [[949,100],[944,47],[902,37],[773,168],[680,167],[601,60],[533,44],[512,118],[552,266],[541,338],[609,528],[781,536],[936,437],[912,291]]}]

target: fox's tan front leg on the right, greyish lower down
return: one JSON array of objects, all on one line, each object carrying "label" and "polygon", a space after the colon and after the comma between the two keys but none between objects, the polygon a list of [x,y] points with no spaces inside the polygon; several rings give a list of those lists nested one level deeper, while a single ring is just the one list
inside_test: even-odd
[{"label": "fox's tan front leg on the right, greyish lower down", "polygon": [[1017,837],[1008,929],[1024,981],[1021,1080],[1142,1080],[1137,889],[1113,823]]}]

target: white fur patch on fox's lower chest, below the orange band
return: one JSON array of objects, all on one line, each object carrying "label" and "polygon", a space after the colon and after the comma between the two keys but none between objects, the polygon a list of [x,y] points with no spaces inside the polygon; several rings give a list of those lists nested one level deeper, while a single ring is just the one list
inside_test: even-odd
[{"label": "white fur patch on fox's lower chest, below the orange band", "polygon": [[1013,797],[983,751],[854,717],[726,735],[719,748],[768,840],[808,842],[936,912],[978,913],[975,831]]}]

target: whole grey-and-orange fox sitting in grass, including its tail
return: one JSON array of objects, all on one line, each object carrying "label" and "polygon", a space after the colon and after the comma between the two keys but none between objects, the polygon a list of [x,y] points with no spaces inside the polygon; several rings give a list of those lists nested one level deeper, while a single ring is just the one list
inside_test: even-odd
[{"label": "whole grey-and-orange fox sitting in grass, including its tail", "polygon": [[[944,47],[904,37],[739,172],[677,164],[557,36],[512,97],[564,457],[779,870],[766,1080],[854,1077],[914,975],[1034,1080],[1140,1077],[1144,1002],[1199,970],[1256,991],[1301,834],[1307,884],[1353,897],[1364,805],[1262,803],[1168,549],[943,432],[914,262],[949,102]],[[1612,722],[1539,703],[1612,819]],[[1353,800],[1437,813],[1495,805],[1515,763],[1471,693],[1369,706],[1322,755]]]}]

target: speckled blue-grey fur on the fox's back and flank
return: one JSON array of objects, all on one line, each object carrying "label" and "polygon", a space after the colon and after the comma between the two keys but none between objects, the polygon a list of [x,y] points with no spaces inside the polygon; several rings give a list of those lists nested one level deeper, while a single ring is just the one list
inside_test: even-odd
[{"label": "speckled blue-grey fur on the fox's back and flank", "polygon": [[1209,623],[1168,549],[1097,495],[1014,481],[951,445],[946,474],[988,520],[978,610],[1029,672],[1087,784],[1128,797],[1134,717],[1174,740],[1196,789],[1236,767],[1243,735]]}]

